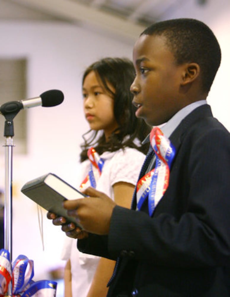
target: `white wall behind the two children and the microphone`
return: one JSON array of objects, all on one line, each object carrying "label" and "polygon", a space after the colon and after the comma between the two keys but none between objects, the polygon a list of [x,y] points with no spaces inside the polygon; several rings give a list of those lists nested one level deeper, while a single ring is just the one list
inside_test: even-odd
[{"label": "white wall behind the two children and the microphone", "polygon": [[[181,11],[181,15],[175,17],[184,16],[187,17]],[[189,17],[198,18],[196,15]],[[226,11],[206,22],[219,38],[223,52],[209,103],[214,114],[230,130],[229,20],[230,12]],[[20,188],[26,181],[48,172],[54,172],[75,185],[79,143],[88,128],[82,113],[82,72],[91,62],[104,56],[131,58],[132,45],[64,23],[2,22],[0,36],[1,58],[28,58],[28,98],[54,88],[62,90],[65,95],[64,102],[57,107],[28,110],[28,154],[13,155],[12,256],[15,259],[24,254],[33,259],[35,277],[42,279],[46,278],[50,268],[64,264],[59,260],[64,234],[59,227],[52,226],[44,212],[45,250],[42,250],[36,206],[20,193]],[[0,131],[3,133],[3,127]],[[0,148],[0,187],[4,187],[4,148]]]}]

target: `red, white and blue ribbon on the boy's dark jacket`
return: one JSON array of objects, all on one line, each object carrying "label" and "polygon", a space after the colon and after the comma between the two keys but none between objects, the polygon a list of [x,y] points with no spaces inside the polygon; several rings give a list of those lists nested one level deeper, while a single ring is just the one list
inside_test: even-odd
[{"label": "red, white and blue ribbon on the boy's dark jacket", "polygon": [[168,187],[175,147],[158,127],[151,130],[150,143],[156,154],[156,166],[138,181],[137,209],[140,210],[144,201],[148,199],[148,212],[149,216],[152,216]]}]

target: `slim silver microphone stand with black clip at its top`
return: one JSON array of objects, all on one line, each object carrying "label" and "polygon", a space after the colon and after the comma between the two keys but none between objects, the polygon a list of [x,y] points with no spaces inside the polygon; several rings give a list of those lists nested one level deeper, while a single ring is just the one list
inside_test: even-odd
[{"label": "slim silver microphone stand with black clip at its top", "polygon": [[[12,148],[14,136],[13,119],[22,109],[18,101],[1,105],[0,112],[5,117],[5,197],[4,197],[4,249],[9,251],[9,263],[12,264]],[[12,268],[12,267],[11,267]],[[11,269],[12,271],[12,269]],[[12,281],[9,282],[7,296],[12,297]]]}]

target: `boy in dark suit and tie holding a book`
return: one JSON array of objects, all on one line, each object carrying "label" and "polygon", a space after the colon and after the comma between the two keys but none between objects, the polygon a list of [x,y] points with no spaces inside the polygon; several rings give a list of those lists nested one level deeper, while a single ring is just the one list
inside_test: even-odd
[{"label": "boy in dark suit and tie holding a book", "polygon": [[[140,204],[143,185],[153,192],[146,176],[130,210],[92,188],[64,203],[88,232],[63,225],[79,250],[117,258],[108,296],[230,296],[230,135],[206,102],[220,60],[213,32],[193,19],[155,23],[135,43],[136,116],[166,123],[174,152],[162,197],[152,209],[151,195]],[[150,146],[139,179],[155,158]]]}]

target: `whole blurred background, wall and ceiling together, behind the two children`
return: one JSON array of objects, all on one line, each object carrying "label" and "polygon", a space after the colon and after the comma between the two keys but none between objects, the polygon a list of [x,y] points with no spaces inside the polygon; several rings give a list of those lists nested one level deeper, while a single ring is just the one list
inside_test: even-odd
[{"label": "whole blurred background, wall and ceiling together, behind the two children", "polygon": [[[44,211],[43,250],[36,204],[20,189],[49,172],[78,186],[79,144],[88,129],[82,111],[84,69],[106,56],[132,59],[134,42],[146,26],[187,17],[204,21],[221,45],[221,67],[208,102],[230,130],[229,0],[0,0],[0,105],[37,97],[49,89],[60,89],[65,96],[61,105],[21,110],[14,119],[12,259],[20,254],[33,259],[34,280],[62,278],[65,235]],[[1,218],[4,120],[0,115]],[[57,296],[63,296],[59,283]]]}]

